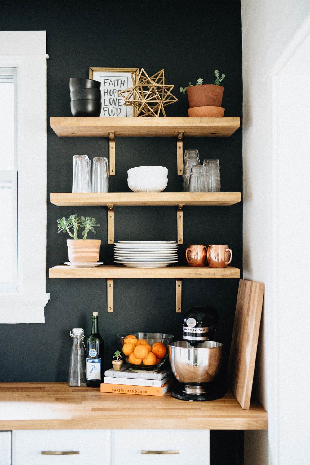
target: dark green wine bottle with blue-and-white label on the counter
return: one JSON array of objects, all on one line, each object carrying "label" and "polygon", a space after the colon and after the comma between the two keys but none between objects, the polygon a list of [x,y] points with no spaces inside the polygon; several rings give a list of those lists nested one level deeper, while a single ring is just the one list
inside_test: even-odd
[{"label": "dark green wine bottle with blue-and-white label on the counter", "polygon": [[98,331],[98,312],[92,312],[92,334],[86,340],[86,385],[100,387],[103,373],[103,339]]}]

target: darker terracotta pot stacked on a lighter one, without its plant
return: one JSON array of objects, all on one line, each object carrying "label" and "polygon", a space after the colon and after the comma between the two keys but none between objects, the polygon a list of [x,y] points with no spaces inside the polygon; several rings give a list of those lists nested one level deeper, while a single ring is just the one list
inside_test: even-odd
[{"label": "darker terracotta pot stacked on a lighter one, without its plant", "polygon": [[187,87],[187,97],[190,107],[194,106],[221,106],[224,87],[215,84],[201,84]]}]

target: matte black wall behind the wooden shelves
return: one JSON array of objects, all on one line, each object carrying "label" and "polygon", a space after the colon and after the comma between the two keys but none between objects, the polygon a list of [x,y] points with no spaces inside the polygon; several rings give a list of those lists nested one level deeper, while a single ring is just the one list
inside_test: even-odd
[{"label": "matte black wall behind the wooden shelves", "polygon": [[[44,6],[43,6],[44,5]],[[180,86],[213,71],[225,73],[225,116],[242,116],[242,42],[239,1],[60,1],[9,2],[1,6],[1,30],[46,30],[47,35],[47,198],[50,192],[70,192],[72,160],[78,153],[108,156],[108,141],[101,138],[58,138],[49,127],[50,116],[71,116],[70,77],[88,77],[89,66],[137,66],[148,73],[165,68],[166,83],[174,84],[179,101],[166,107],[167,116],[187,116],[187,97]],[[35,76],[34,76],[35,78]],[[222,190],[242,191],[242,131],[230,138],[185,138],[184,149],[198,148],[200,159],[218,158]],[[33,147],[33,156],[37,156]],[[180,191],[176,140],[172,138],[120,138],[116,140],[116,176],[110,190],[129,192],[127,169],[140,165],[167,166],[167,191]],[[115,241],[176,240],[174,207],[115,207]],[[100,260],[113,263],[107,245],[106,208],[57,207],[47,202],[47,269],[67,261],[66,235],[57,234],[57,219],[71,213],[93,216],[101,227]],[[30,227],[29,227],[30,229]],[[94,235],[92,235],[94,236]],[[89,236],[91,239],[92,236]],[[242,204],[230,207],[186,207],[184,245],[229,244],[232,265],[242,267]],[[35,279],[35,277],[33,277]],[[209,302],[220,312],[218,340],[224,343],[227,364],[238,280],[183,280],[183,309]],[[106,312],[106,281],[100,279],[47,279],[51,299],[44,325],[0,325],[1,381],[65,381],[74,326],[91,329],[91,312],[99,312],[99,329],[105,340],[105,363],[110,366],[118,348],[119,332],[170,332],[181,338],[182,317],[175,313],[175,282],[165,280],[114,280],[114,313]],[[12,358],[15,363],[12,364]],[[237,463],[232,452],[218,447],[229,433],[212,433],[213,463]],[[219,450],[221,449],[221,451]],[[228,448],[229,449],[229,448]],[[240,452],[240,448],[237,447]],[[225,458],[224,458],[224,455]],[[235,458],[232,458],[232,457]]]}]

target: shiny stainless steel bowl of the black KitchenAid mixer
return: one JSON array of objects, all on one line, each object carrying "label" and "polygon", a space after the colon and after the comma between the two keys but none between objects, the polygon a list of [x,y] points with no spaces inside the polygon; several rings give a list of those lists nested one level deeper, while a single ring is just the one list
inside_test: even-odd
[{"label": "shiny stainless steel bowl of the black KitchenAid mixer", "polygon": [[174,376],[181,383],[196,384],[213,381],[222,359],[223,344],[205,341],[195,347],[177,341],[168,345],[169,361]]}]

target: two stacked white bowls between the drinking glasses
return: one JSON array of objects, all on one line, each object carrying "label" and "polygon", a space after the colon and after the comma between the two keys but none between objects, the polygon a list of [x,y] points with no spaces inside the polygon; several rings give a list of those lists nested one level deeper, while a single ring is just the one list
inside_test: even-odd
[{"label": "two stacked white bowls between the drinking glasses", "polygon": [[128,187],[133,192],[161,192],[167,187],[168,168],[137,166],[128,171]]}]

